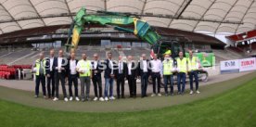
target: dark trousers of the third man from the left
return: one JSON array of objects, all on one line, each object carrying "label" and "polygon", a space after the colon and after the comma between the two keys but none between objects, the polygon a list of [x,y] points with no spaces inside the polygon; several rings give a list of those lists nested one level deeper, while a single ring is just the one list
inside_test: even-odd
[{"label": "dark trousers of the third man from the left", "polygon": [[56,97],[58,98],[58,86],[59,86],[59,81],[61,83],[61,86],[62,86],[62,92],[63,92],[63,95],[64,97],[67,97],[67,92],[66,92],[66,87],[65,87],[65,75],[59,73],[59,72],[56,72],[55,73],[55,90],[56,90]]}]

